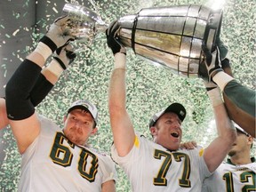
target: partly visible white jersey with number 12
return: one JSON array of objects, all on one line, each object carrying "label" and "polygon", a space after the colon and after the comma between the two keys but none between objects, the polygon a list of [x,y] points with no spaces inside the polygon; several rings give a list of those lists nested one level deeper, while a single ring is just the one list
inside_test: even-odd
[{"label": "partly visible white jersey with number 12", "polygon": [[256,162],[252,164],[220,164],[211,177],[204,180],[204,192],[249,192],[256,191]]}]

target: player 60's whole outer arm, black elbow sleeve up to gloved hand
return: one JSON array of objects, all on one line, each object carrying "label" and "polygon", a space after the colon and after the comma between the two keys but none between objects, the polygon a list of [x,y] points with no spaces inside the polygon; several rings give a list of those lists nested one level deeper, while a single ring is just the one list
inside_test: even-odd
[{"label": "player 60's whole outer arm, black elbow sleeve up to gloved hand", "polygon": [[7,116],[21,154],[40,132],[40,124],[31,100],[31,92],[41,74],[45,60],[58,47],[67,44],[68,40],[72,38],[63,36],[61,29],[67,20],[67,17],[60,18],[52,24],[47,34],[37,44],[36,50],[20,64],[6,85]]}]

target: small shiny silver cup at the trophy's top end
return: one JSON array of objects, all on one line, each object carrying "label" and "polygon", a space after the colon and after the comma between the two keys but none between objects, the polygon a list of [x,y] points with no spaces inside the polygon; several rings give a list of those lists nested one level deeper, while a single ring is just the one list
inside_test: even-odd
[{"label": "small shiny silver cup at the trophy's top end", "polygon": [[62,14],[70,18],[66,28],[79,42],[91,44],[94,36],[108,28],[96,12],[80,4],[65,4]]}]

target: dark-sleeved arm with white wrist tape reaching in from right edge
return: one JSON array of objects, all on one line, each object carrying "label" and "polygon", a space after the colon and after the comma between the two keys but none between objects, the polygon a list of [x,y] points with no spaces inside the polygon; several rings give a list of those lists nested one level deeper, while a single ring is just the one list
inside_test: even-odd
[{"label": "dark-sleeved arm with white wrist tape reaching in from right edge", "polygon": [[256,92],[242,84],[234,78],[229,64],[228,47],[217,36],[216,43],[220,49],[221,68],[212,80],[218,84],[223,94],[223,100],[228,111],[228,116],[243,127],[252,137],[256,138],[255,128],[255,100]]}]

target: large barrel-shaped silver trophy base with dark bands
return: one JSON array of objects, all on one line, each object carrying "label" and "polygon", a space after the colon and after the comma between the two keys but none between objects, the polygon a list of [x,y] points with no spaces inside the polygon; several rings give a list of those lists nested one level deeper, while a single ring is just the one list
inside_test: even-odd
[{"label": "large barrel-shaped silver trophy base with dark bands", "polygon": [[118,20],[121,44],[173,73],[205,77],[202,44],[212,50],[220,33],[222,12],[203,5],[142,9]]}]

